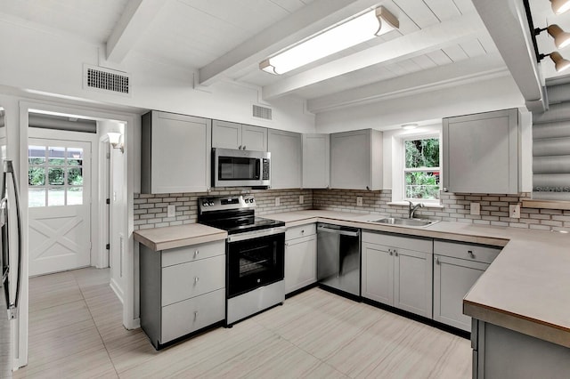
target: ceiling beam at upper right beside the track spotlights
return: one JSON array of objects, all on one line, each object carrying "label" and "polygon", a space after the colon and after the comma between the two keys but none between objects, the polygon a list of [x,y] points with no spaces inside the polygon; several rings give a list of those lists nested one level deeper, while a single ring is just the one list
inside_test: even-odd
[{"label": "ceiling beam at upper right beside the track spotlights", "polygon": [[543,112],[546,104],[542,76],[523,0],[477,0],[473,4],[525,98],[526,108]]}]

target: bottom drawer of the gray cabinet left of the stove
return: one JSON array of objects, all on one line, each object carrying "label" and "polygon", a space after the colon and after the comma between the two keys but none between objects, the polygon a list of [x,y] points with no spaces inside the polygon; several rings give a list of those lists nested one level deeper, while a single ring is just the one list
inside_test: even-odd
[{"label": "bottom drawer of the gray cabinet left of the stove", "polygon": [[162,308],[160,343],[167,343],[183,335],[208,327],[225,317],[225,290],[175,302]]}]

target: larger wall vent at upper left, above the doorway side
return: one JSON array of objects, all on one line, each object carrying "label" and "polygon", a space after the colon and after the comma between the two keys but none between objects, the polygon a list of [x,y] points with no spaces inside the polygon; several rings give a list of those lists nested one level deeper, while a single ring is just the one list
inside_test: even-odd
[{"label": "larger wall vent at upper left, above the doorway side", "polygon": [[131,77],[122,71],[95,66],[84,66],[83,87],[105,93],[130,95]]}]

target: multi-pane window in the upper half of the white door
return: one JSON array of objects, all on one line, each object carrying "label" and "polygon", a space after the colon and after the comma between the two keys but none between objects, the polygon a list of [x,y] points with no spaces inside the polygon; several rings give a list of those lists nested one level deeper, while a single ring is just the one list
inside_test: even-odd
[{"label": "multi-pane window in the upper half of the white door", "polygon": [[83,204],[83,149],[28,147],[28,206]]}]

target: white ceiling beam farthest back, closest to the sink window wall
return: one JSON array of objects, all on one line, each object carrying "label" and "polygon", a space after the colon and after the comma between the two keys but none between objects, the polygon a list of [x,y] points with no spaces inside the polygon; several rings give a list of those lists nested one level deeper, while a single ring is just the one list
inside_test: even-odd
[{"label": "white ceiling beam farthest back, closest to the sink window wall", "polygon": [[315,98],[307,101],[307,110],[320,113],[508,75],[501,55],[495,52]]}]

